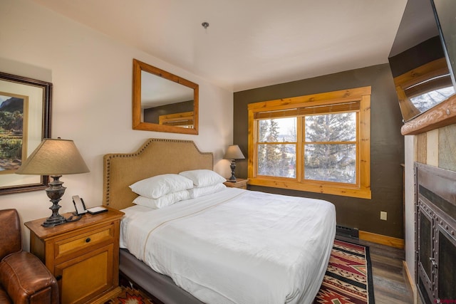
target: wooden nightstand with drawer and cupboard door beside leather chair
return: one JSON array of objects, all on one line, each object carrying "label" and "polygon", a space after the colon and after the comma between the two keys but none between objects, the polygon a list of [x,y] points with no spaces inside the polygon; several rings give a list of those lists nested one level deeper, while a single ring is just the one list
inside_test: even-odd
[{"label": "wooden nightstand with drawer and cupboard door beside leather chair", "polygon": [[41,226],[45,219],[25,223],[30,229],[30,251],[56,277],[63,304],[86,303],[118,287],[123,212],[108,209],[55,227]]}]

